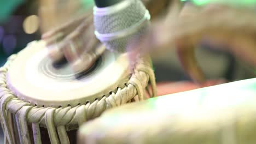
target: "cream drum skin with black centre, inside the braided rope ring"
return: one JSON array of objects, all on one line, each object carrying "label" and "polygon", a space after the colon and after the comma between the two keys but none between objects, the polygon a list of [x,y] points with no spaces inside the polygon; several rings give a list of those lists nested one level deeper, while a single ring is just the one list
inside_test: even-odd
[{"label": "cream drum skin with black centre, inside the braided rope ring", "polygon": [[84,73],[73,73],[67,63],[56,67],[47,55],[44,41],[34,42],[11,63],[7,85],[19,99],[37,106],[75,106],[100,100],[129,80],[126,53],[106,51]]}]

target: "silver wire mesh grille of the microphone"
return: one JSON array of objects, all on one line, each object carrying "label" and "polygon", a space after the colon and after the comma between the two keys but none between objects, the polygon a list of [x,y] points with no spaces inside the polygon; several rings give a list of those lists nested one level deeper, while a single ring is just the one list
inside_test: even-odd
[{"label": "silver wire mesh grille of the microphone", "polygon": [[[94,25],[97,33],[114,34],[120,31],[134,31],[134,26],[144,18],[147,9],[141,1],[125,1],[129,1],[131,3],[127,7],[115,11],[115,13],[97,14],[97,9],[100,8],[95,10]],[[114,9],[114,7],[109,7],[109,9],[111,8]],[[143,23],[143,26],[136,32],[123,35],[123,37],[118,37],[112,40],[99,39],[106,45],[107,49],[125,52],[127,44],[133,39],[141,38],[141,36],[147,31],[148,25],[149,21]]]}]

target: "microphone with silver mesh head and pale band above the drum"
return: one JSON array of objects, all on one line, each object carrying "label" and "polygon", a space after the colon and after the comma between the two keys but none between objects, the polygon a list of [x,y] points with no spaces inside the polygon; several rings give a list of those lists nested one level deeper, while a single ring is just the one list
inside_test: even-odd
[{"label": "microphone with silver mesh head and pale band above the drum", "polygon": [[110,51],[126,52],[147,32],[150,14],[140,0],[95,0],[95,35]]}]

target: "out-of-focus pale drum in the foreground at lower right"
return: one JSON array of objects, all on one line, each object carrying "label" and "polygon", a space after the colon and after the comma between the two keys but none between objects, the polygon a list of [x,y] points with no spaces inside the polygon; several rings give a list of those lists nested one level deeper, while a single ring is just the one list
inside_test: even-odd
[{"label": "out-of-focus pale drum in the foreground at lower right", "polygon": [[170,94],[103,113],[82,143],[256,143],[256,79]]}]

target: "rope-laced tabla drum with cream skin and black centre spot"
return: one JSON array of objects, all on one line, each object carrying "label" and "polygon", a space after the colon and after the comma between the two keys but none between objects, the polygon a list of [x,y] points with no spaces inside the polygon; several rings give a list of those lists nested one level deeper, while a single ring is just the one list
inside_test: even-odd
[{"label": "rope-laced tabla drum with cream skin and black centre spot", "polygon": [[45,42],[33,41],[0,69],[5,143],[76,143],[79,125],[106,109],[146,99],[147,92],[156,94],[149,57],[138,58],[130,73],[127,53],[105,51],[88,71],[74,73],[47,55]]}]

